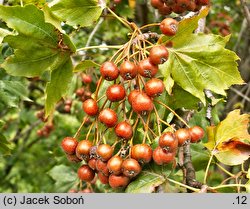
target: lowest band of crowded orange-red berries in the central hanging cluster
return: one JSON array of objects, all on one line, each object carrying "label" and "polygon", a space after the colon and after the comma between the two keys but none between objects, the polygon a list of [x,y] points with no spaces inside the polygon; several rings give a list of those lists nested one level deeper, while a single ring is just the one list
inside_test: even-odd
[{"label": "lowest band of crowded orange-red berries in the central hanging cluster", "polygon": [[142,170],[142,166],[152,159],[158,165],[171,163],[175,159],[178,146],[190,140],[195,143],[204,136],[199,126],[189,129],[178,129],[175,133],[165,132],[159,138],[156,149],[148,144],[136,144],[130,148],[130,156],[122,157],[122,152],[114,155],[114,147],[109,144],[93,145],[90,140],[78,142],[75,138],[66,137],[61,146],[69,160],[85,164],[78,169],[78,177],[82,181],[92,182],[97,173],[103,184],[112,188],[126,187],[131,179]]}]

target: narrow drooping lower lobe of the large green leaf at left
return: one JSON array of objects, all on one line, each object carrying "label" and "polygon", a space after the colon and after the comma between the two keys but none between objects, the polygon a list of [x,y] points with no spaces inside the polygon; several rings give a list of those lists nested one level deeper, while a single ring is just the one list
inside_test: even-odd
[{"label": "narrow drooping lower lobe of the large green leaf at left", "polygon": [[73,77],[72,68],[71,58],[67,58],[61,66],[51,72],[51,79],[45,90],[46,115],[50,114],[55,104],[66,95]]}]

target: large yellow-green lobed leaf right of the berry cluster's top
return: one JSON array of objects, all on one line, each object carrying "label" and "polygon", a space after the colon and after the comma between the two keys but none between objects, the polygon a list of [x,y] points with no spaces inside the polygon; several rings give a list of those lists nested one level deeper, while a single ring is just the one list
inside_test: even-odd
[{"label": "large yellow-green lobed leaf right of the berry cluster's top", "polygon": [[229,36],[193,34],[198,20],[206,14],[201,12],[197,17],[184,19],[175,36],[162,39],[172,41],[173,48],[169,48],[169,59],[160,67],[169,93],[173,79],[204,104],[204,89],[225,96],[231,85],[243,83],[236,62],[239,57],[225,48]]}]

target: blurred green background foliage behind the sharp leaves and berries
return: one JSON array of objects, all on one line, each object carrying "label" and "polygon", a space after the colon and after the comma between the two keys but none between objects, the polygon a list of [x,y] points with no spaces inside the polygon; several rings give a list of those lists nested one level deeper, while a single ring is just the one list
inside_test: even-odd
[{"label": "blurred green background foliage behind the sharp leaves and berries", "polygon": [[[28,3],[43,7],[46,2],[43,0],[23,0],[23,4]],[[20,5],[20,1],[5,0],[3,4]],[[129,6],[129,2],[123,0],[115,8],[115,12],[138,25],[159,22],[164,18],[146,0],[136,1],[135,7]],[[86,44],[89,46],[120,45],[127,42],[128,30],[108,15],[103,14],[97,25],[98,27],[93,25],[88,28],[72,28],[63,24],[62,28],[70,35],[77,48],[84,47]],[[0,28],[6,28],[6,25],[0,22]],[[94,29],[97,32],[90,41],[89,36]],[[234,50],[240,57],[239,70],[246,83],[242,86],[233,86],[228,91],[226,102],[220,102],[215,107],[214,117],[218,118],[219,121],[235,108],[240,108],[242,112],[249,113],[250,27],[247,26],[247,21],[244,18],[240,0],[212,0],[205,32],[222,36],[231,34],[227,47]],[[0,45],[0,62],[3,62],[4,58],[10,53],[12,51],[7,44]],[[84,57],[96,63],[102,63],[113,53],[113,50],[105,48],[103,50],[89,50],[87,54],[76,55],[74,60],[77,63]],[[93,78],[89,91],[93,92],[95,89],[94,83],[97,81],[96,72],[93,70],[88,73]],[[0,69],[0,192],[65,192],[75,186],[75,177],[70,175],[70,170],[65,170],[64,167],[59,169],[54,166],[64,164],[71,167],[72,171],[77,169],[65,158],[60,148],[60,142],[65,136],[74,135],[81,123],[83,112],[81,101],[76,99],[75,90],[81,88],[83,84],[76,74],[68,94],[68,99],[73,101],[70,112],[64,111],[63,101],[60,101],[57,111],[54,113],[53,130],[49,134],[45,133],[45,136],[39,136],[39,130],[43,129],[45,124],[48,123],[44,123],[36,117],[43,109],[44,88],[47,79],[46,73],[41,78],[26,79],[11,77],[3,69]],[[10,83],[13,86],[12,91],[5,88]],[[195,115],[193,121],[195,120],[196,124],[197,122],[202,123],[204,118],[205,111],[201,110]],[[49,122],[52,121],[49,119]],[[10,151],[1,149],[1,146],[10,148]],[[55,186],[54,180],[49,174],[56,172],[56,169],[59,172],[57,177],[62,179],[62,184]],[[67,179],[65,179],[65,173],[62,171],[69,172]],[[199,172],[197,173],[198,178]],[[215,172],[210,181],[214,181],[210,182],[211,184],[221,182],[220,173]],[[106,188],[99,189],[103,191]]]}]

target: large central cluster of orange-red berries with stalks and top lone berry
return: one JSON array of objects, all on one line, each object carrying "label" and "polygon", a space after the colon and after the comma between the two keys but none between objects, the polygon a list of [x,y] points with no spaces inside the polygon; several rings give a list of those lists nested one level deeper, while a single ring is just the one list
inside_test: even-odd
[{"label": "large central cluster of orange-red berries with stalks and top lone berry", "polygon": [[[160,30],[165,35],[173,36],[177,29],[178,22],[172,18],[160,23]],[[101,183],[109,184],[112,188],[126,187],[152,159],[158,165],[171,163],[178,146],[186,141],[197,142],[204,135],[198,126],[175,131],[173,126],[160,118],[155,103],[178,116],[170,107],[158,101],[159,96],[165,93],[165,86],[157,78],[157,73],[159,65],[168,60],[169,52],[165,45],[150,44],[147,47],[140,37],[141,33],[131,37],[120,54],[116,54],[116,59],[113,56],[114,61],[111,59],[100,66],[96,91],[82,103],[87,118],[94,119],[87,133],[84,133],[84,140],[78,141],[77,138],[87,121],[86,117],[75,136],[66,137],[61,143],[69,161],[84,161],[78,168],[81,181],[91,183],[97,176]],[[133,45],[136,41],[138,47]],[[102,89],[104,82],[108,85],[106,89]],[[100,89],[105,93],[98,97]],[[157,120],[159,134],[150,127],[151,117]],[[139,125],[144,128],[144,136],[140,142],[135,142]],[[161,125],[167,125],[175,132],[162,133]],[[107,131],[113,132],[116,139],[106,140]],[[153,150],[151,139],[158,136],[159,146]]]}]

